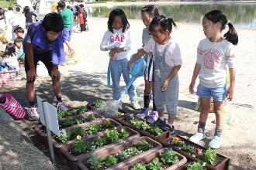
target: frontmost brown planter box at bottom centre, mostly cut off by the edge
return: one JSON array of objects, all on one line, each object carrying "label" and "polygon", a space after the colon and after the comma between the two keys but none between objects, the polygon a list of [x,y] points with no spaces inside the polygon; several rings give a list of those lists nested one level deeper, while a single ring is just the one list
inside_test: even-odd
[{"label": "frontmost brown planter box at bottom centre, mostly cut off by the edge", "polygon": [[[147,164],[148,162],[151,162],[154,158],[160,157],[165,150],[166,148],[162,148],[160,151],[151,153],[150,155],[146,155],[144,158],[140,158],[136,162],[133,162],[133,165],[135,165],[136,163]],[[185,158],[185,156],[183,155],[180,155],[178,152],[176,152],[176,155],[178,155],[179,162],[165,169],[175,170],[175,169],[178,169],[179,167],[182,167],[182,165],[185,165],[185,163],[187,162],[187,158]],[[125,167],[122,168],[122,170],[129,170],[130,168],[133,167],[133,165],[126,165]]]}]

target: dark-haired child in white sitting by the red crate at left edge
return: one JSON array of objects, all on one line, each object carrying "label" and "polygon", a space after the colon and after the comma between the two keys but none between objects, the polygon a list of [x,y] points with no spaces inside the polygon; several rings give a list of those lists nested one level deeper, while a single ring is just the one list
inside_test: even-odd
[{"label": "dark-haired child in white sitting by the red crate at left edge", "polygon": [[16,70],[16,75],[19,73],[19,62],[16,56],[16,46],[13,43],[8,43],[5,47],[2,65],[8,67],[8,70]]}]

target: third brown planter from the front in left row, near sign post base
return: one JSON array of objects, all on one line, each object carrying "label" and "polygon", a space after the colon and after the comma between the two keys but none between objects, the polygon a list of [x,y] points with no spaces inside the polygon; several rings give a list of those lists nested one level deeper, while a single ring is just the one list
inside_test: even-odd
[{"label": "third brown planter from the front in left row, near sign post base", "polygon": [[[127,141],[130,141],[132,139],[136,139],[136,138],[140,138],[140,134],[137,132],[137,131],[134,131],[133,129],[131,128],[128,128],[128,127],[123,127],[125,128],[127,131],[130,132],[130,136],[127,137],[127,138],[124,138],[123,140],[119,140],[119,141],[116,141],[114,143],[111,143],[109,145],[105,145],[101,148],[96,148],[95,151],[102,151],[104,149],[107,149],[107,148],[113,148],[115,147],[116,145],[120,145],[120,144],[123,144]],[[97,137],[92,137],[92,138],[84,138],[85,140],[88,140],[88,141],[92,141],[94,140],[95,138],[100,138],[104,136],[104,134],[101,134],[100,136],[97,136]],[[64,147],[61,148],[61,153],[64,155],[64,157],[66,158],[67,160],[67,165],[71,168],[71,169],[78,169],[78,159],[79,158],[85,158],[85,157],[89,157],[90,156],[90,153],[87,152],[87,153],[84,153],[84,154],[81,154],[81,155],[71,155],[71,145],[73,144],[74,141],[64,145]]]}]

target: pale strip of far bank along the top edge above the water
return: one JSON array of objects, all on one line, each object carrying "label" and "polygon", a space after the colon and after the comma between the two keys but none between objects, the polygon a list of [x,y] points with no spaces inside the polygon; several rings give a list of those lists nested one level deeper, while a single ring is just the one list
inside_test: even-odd
[{"label": "pale strip of far bank along the top edge above the water", "polygon": [[256,1],[220,1],[220,2],[106,2],[106,3],[85,3],[86,7],[104,7],[104,6],[126,6],[126,5],[147,5],[147,4],[157,4],[157,5],[165,5],[165,4],[174,4],[174,5],[196,5],[196,4],[250,4],[256,3]]}]

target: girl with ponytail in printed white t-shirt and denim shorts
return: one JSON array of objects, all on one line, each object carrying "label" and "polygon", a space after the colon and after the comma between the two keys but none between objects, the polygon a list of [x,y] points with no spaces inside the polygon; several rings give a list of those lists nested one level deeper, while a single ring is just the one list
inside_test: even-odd
[{"label": "girl with ponytail in printed white t-shirt and denim shorts", "polygon": [[[229,31],[221,36],[225,26]],[[238,36],[234,26],[227,22],[226,15],[219,10],[206,13],[202,19],[202,29],[206,39],[202,39],[197,47],[197,60],[189,92],[194,93],[195,80],[199,75],[199,86],[196,94],[200,97],[201,112],[199,116],[198,132],[190,141],[198,143],[204,137],[206,120],[210,108],[210,99],[213,97],[214,112],[216,114],[216,128],[210,148],[220,148],[223,133],[223,100],[232,100],[235,83],[235,55],[234,45],[237,45]],[[226,87],[226,64],[230,71],[230,87]]]}]

